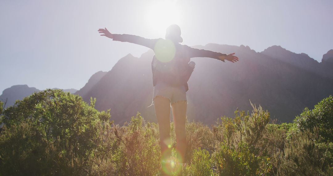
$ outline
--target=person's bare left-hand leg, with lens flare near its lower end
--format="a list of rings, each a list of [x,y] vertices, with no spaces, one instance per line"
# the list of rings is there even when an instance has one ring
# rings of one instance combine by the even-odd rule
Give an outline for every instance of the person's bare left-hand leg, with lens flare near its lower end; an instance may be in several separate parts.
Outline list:
[[[157,96],[154,98],[154,107],[160,129],[162,160],[167,160],[171,156],[170,100],[165,97]]]

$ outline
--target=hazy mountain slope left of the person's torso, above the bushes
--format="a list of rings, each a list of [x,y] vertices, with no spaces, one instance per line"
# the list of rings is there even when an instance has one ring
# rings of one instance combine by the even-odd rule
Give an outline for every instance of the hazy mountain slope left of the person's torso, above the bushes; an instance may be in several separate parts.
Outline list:
[[[121,58],[86,94],[81,95],[87,102],[96,97],[98,110],[111,109],[112,120],[116,123],[128,121],[140,111],[146,119],[155,120],[152,103],[153,83],[151,59],[153,52],[136,58],[131,54]]]

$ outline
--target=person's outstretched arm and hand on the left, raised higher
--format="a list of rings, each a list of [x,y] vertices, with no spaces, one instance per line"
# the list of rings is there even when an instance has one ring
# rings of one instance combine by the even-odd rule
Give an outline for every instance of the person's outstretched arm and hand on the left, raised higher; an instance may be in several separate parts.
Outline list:
[[[138,45],[146,46],[148,48],[154,49],[155,43],[158,39],[146,39],[144,37],[140,37],[137,35],[130,35],[130,34],[111,34],[107,28],[99,29],[98,30],[101,36],[106,36],[114,41],[121,41],[121,42],[130,42],[135,43]]]

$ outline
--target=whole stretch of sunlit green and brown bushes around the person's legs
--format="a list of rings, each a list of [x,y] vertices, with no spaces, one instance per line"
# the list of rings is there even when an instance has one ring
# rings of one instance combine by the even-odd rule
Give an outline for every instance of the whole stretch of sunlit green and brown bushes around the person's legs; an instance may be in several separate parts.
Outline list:
[[[159,126],[140,113],[116,125],[90,101],[48,89],[0,102],[0,175],[159,175]],[[185,163],[172,175],[333,175],[332,96],[288,124],[251,105],[211,126],[187,121]],[[171,141],[176,158],[172,123]]]

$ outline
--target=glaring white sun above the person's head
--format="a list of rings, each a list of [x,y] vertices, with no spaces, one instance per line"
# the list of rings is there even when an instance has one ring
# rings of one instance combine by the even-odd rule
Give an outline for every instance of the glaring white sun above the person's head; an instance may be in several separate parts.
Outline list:
[[[165,33],[169,25],[179,24],[181,19],[179,12],[175,0],[157,1],[149,6],[146,13],[146,22],[155,32]]]

